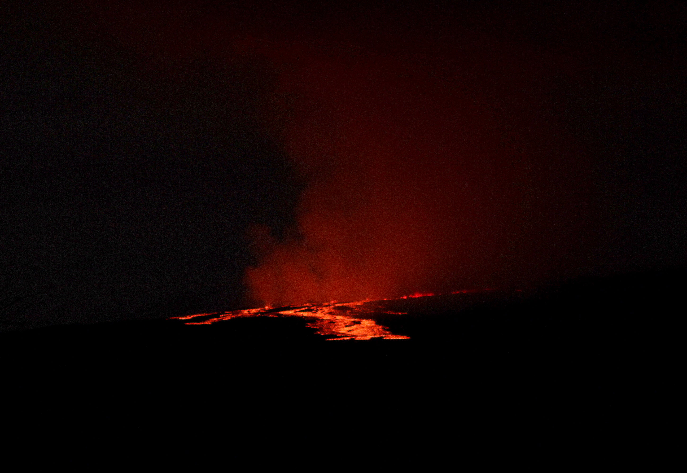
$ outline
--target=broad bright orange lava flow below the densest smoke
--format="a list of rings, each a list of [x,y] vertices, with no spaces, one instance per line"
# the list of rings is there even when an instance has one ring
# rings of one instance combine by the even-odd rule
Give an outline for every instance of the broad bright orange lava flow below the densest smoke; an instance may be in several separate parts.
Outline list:
[[[298,307],[266,307],[264,309],[245,309],[172,318],[189,320],[189,322],[185,322],[186,325],[210,325],[233,318],[302,317],[309,320],[307,326],[315,329],[315,333],[331,337],[327,340],[370,340],[372,338],[401,340],[409,338],[395,335],[387,327],[378,325],[372,318],[369,318],[373,314],[404,315],[405,312],[389,311],[374,301],[360,300],[351,303],[333,301],[326,304],[306,304]]]

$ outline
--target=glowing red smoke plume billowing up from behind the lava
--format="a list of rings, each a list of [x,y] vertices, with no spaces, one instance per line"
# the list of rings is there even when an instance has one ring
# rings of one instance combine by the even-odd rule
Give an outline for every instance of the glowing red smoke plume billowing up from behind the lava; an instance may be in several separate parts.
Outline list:
[[[278,71],[306,187],[296,228],[251,233],[249,298],[393,298],[574,267],[581,158],[547,109],[541,56],[477,33],[380,36],[254,46]]]

